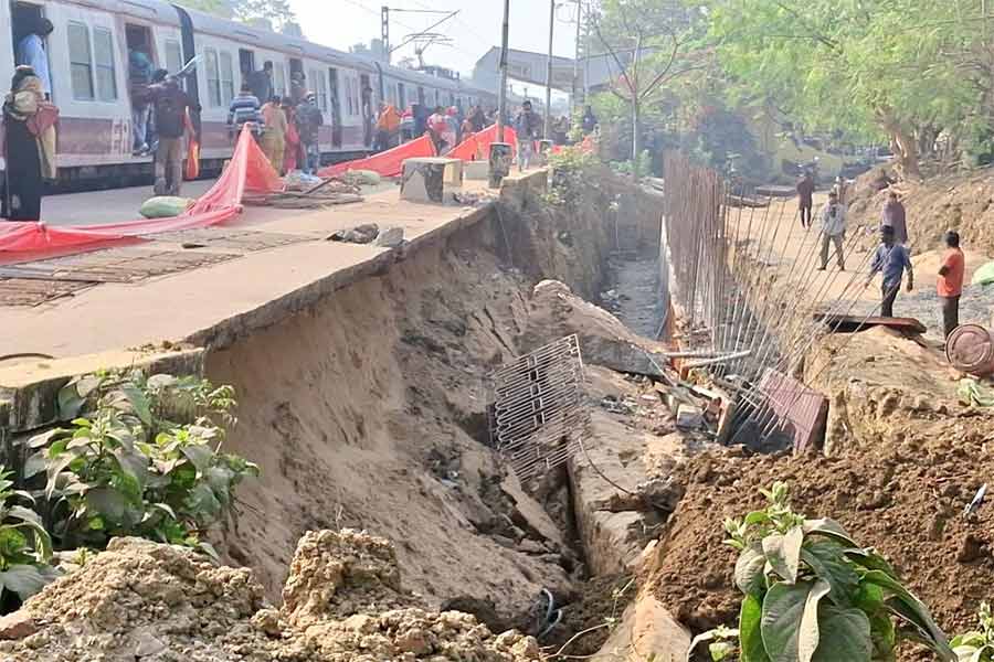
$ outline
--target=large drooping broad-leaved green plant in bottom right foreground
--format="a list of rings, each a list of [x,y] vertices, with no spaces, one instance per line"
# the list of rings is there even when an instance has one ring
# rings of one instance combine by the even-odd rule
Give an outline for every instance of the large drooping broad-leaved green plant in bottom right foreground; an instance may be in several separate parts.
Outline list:
[[[795,513],[786,484],[762,493],[764,510],[725,523],[728,544],[740,552],[741,662],[890,661],[901,639],[956,660],[928,607],[884,557],[838,523]],[[691,653],[708,637],[695,640]]]

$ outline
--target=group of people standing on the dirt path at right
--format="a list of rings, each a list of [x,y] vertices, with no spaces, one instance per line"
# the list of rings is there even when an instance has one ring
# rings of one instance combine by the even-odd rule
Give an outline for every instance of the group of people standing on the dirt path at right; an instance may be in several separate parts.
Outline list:
[[[810,228],[814,193],[814,181],[810,173],[802,177],[796,190],[801,225]],[[822,242],[818,266],[821,271],[828,266],[828,253],[832,246],[835,248],[839,270],[844,271],[846,268],[844,244],[847,207],[845,195],[846,182],[839,178],[828,193],[828,203],[822,207],[818,215]],[[963,292],[965,260],[963,252],[960,249],[959,233],[947,232],[944,242],[947,249],[942,256],[935,288],[942,309],[942,330],[945,338],[949,338],[950,333],[960,324],[960,297]],[[907,211],[897,192],[890,191],[880,214],[880,245],[873,254],[867,279],[867,286],[869,286],[877,274],[882,277],[880,286],[880,314],[882,317],[893,317],[893,303],[905,282],[906,273],[907,290],[910,292],[914,288],[914,269],[907,244]]]

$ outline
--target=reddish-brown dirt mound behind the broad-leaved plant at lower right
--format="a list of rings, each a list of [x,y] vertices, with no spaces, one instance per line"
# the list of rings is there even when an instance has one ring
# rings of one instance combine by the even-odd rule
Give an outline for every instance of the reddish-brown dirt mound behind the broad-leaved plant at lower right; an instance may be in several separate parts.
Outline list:
[[[962,513],[994,476],[994,414],[961,406],[954,376],[893,331],[824,339],[806,380],[832,404],[831,456],[713,449],[679,466],[685,495],[660,540],[656,595],[691,630],[731,623],[740,596],[722,523],[762,506],[759,489],[781,480],[797,512],[835,519],[890,558],[948,632],[972,627],[991,599],[994,504]]]

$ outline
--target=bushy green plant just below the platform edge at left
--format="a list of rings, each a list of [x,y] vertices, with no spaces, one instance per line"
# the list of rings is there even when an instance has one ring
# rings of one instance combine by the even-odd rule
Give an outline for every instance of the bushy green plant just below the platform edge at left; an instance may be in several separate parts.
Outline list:
[[[66,427],[29,441],[27,478],[45,474],[44,512],[61,548],[137,535],[190,546],[258,468],[221,452],[232,388],[140,372],[74,380],[59,394]]]

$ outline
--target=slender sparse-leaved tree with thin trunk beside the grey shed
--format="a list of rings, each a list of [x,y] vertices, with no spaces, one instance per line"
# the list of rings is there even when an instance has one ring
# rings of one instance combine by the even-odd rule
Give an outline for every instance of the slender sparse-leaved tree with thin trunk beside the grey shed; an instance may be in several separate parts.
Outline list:
[[[702,70],[708,57],[699,38],[705,15],[696,3],[664,0],[604,0],[593,30],[614,67],[610,92],[632,118],[632,160],[642,153],[644,108],[685,74]],[[637,166],[635,170],[638,175]]]

